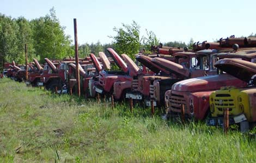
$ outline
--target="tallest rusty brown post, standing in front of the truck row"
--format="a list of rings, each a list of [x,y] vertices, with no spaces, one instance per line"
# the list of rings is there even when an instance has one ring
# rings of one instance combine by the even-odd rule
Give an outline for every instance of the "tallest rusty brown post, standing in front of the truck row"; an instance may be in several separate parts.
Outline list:
[[[76,18],[74,18],[74,34],[75,34],[75,57],[76,57],[76,81],[78,87],[78,96],[80,97],[80,75],[79,75],[79,66],[78,66],[78,43],[77,43],[77,24]]]

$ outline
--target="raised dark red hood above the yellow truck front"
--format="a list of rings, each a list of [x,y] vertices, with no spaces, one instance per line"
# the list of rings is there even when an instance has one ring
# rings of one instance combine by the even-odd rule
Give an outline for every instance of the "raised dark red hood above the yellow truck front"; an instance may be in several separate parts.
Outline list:
[[[256,64],[240,59],[221,59],[214,66],[246,83],[249,83],[252,76],[256,74]]]

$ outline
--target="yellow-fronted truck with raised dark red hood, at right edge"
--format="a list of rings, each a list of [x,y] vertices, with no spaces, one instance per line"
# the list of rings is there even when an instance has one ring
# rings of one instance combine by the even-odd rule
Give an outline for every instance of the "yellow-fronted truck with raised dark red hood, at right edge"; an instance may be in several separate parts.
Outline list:
[[[251,61],[256,51],[248,51]],[[254,54],[254,57],[252,55]],[[211,116],[206,121],[209,126],[223,125],[223,111],[229,109],[229,124],[240,124],[241,131],[247,131],[250,124],[256,122],[256,64],[239,59],[221,59],[215,67],[248,83],[247,87],[222,87],[210,95]]]

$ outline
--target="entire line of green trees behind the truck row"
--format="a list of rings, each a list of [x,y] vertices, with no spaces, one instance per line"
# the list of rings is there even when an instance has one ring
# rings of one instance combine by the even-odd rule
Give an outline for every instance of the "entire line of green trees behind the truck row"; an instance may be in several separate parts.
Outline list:
[[[78,46],[81,58],[87,57],[89,53],[98,54],[106,52],[106,48],[112,47],[119,54],[127,54],[134,59],[142,49],[150,51],[153,45],[159,45],[160,41],[152,31],[146,29],[146,36],[141,36],[139,25],[133,21],[131,24],[113,30],[114,36],[111,43],[102,44],[84,43]],[[33,58],[44,62],[44,58],[63,59],[74,57],[74,45],[70,36],[64,33],[65,27],[60,25],[54,8],[43,17],[28,20],[25,17],[12,18],[0,13],[0,70],[4,62],[15,61],[19,64],[25,63],[25,43],[28,47],[28,60]],[[99,38],[100,39],[100,38]],[[164,46],[185,47],[185,42],[166,42]]]

